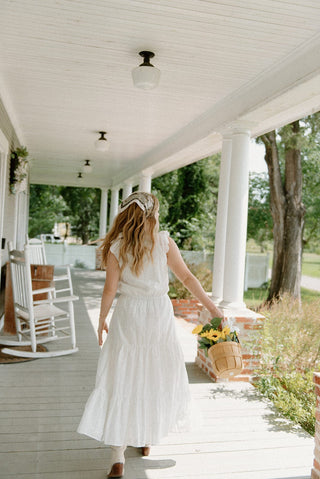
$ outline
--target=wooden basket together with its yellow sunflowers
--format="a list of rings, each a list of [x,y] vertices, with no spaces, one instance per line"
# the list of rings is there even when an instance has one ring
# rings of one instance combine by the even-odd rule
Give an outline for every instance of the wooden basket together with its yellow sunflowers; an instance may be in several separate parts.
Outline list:
[[[222,323],[225,323],[224,327]],[[238,328],[233,327],[231,318],[213,318],[205,325],[196,326],[192,333],[199,336],[199,349],[209,356],[217,377],[230,378],[240,374],[243,366]]]

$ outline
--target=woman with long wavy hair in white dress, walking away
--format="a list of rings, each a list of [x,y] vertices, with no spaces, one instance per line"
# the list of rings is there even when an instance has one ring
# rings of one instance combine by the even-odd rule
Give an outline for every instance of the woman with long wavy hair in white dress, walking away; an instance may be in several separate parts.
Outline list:
[[[125,199],[102,245],[106,282],[99,318],[96,386],[78,432],[112,448],[109,478],[124,474],[127,446],[159,443],[188,418],[190,393],[168,297],[168,266],[214,317],[223,317],[184,263],[175,242],[159,232],[154,195],[132,193]],[[106,317],[117,290],[120,296],[110,328]]]

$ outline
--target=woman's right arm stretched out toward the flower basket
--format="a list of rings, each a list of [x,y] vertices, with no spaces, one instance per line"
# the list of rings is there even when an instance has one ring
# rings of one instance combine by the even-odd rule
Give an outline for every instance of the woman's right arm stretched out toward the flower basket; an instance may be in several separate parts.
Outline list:
[[[211,301],[199,280],[191,273],[183,261],[179,248],[172,238],[169,238],[168,266],[190,293],[210,311],[213,317],[223,318],[223,313]]]

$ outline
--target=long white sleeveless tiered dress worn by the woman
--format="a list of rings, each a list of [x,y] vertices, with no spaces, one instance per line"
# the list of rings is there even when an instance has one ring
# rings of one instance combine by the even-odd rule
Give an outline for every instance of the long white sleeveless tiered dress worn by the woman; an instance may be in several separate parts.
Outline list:
[[[119,258],[121,239],[111,245]],[[187,430],[190,392],[168,297],[168,233],[156,235],[153,262],[136,276],[127,265],[101,349],[95,389],[78,432],[114,446],[158,444]]]

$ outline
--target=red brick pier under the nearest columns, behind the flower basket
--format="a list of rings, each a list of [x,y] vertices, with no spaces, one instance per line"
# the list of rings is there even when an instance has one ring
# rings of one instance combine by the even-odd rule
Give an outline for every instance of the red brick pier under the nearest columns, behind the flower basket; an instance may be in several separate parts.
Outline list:
[[[228,315],[225,311],[226,316]],[[259,366],[259,357],[257,349],[250,344],[252,332],[262,327],[263,316],[254,313],[250,310],[245,310],[241,316],[233,315],[235,317],[235,326],[240,330],[239,336],[242,349],[243,371],[238,376],[232,378],[232,381],[251,381],[254,377],[254,370]],[[210,320],[210,314],[205,308],[201,308],[198,323],[206,324]],[[251,333],[251,334],[250,334]],[[207,358],[203,350],[197,351],[196,364],[213,380],[219,381],[216,378],[210,359]],[[319,476],[320,479],[320,476]]]

